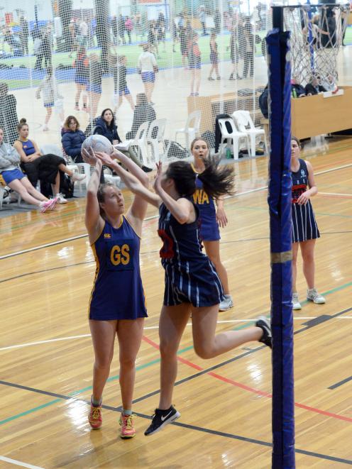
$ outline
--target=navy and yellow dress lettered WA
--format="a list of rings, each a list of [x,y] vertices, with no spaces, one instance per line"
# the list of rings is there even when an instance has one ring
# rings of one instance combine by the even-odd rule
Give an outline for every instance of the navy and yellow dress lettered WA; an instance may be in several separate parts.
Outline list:
[[[199,180],[199,177],[196,177],[193,202],[199,209],[200,237],[203,241],[219,241],[220,231],[219,224],[216,221],[214,199],[204,191],[203,183]]]

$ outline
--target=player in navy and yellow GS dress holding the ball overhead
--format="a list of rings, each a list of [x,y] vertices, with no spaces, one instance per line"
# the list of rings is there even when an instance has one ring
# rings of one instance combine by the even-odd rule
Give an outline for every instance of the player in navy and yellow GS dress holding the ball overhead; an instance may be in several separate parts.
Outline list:
[[[141,229],[147,202],[136,195],[124,215],[120,189],[109,183],[99,186],[101,161],[87,152],[82,155],[95,167],[87,188],[85,216],[89,242],[97,262],[89,301],[89,326],[95,355],[89,424],[98,429],[102,423],[101,397],[109,377],[117,336],[123,407],[119,421],[121,438],[132,438],[136,433],[131,412],[135,361],[147,316],[139,267]],[[148,177],[137,165],[122,154],[120,160],[141,185],[148,186]]]

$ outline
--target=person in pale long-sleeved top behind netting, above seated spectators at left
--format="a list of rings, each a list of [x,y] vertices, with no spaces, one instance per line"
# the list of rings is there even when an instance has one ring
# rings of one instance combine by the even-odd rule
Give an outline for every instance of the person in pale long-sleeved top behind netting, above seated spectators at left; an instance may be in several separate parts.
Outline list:
[[[53,74],[53,67],[48,67],[47,75],[45,75],[43,81],[40,83],[37,92],[35,93],[35,97],[40,99],[40,92],[43,92],[43,105],[46,109],[46,116],[45,122],[43,125],[43,131],[48,131],[48,123],[50,121],[50,117],[53,114],[53,107],[57,105],[57,101],[59,102],[59,116],[61,121],[61,126],[64,120],[64,110],[63,110],[63,96],[59,94],[57,88],[57,82],[55,76]]]

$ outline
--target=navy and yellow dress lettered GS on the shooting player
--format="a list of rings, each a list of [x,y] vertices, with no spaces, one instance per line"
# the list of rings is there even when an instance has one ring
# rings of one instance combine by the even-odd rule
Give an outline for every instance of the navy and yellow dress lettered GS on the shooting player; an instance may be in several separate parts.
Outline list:
[[[126,217],[119,228],[105,221],[92,244],[97,263],[89,319],[113,321],[148,316],[139,266],[141,239]]]

